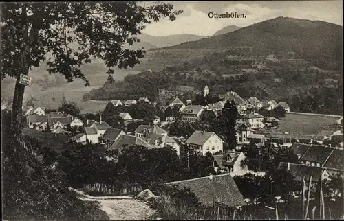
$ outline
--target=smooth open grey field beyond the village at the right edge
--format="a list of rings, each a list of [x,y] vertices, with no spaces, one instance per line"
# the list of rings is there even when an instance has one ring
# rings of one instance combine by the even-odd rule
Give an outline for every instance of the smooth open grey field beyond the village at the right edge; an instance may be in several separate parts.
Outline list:
[[[340,116],[334,115],[307,115],[304,113],[287,113],[286,117],[281,119],[281,132],[292,132],[303,135],[315,135],[324,126],[334,124]]]

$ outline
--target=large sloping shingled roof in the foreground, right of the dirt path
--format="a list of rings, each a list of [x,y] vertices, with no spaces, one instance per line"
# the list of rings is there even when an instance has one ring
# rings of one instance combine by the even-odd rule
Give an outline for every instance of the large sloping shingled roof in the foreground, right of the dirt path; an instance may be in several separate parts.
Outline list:
[[[166,185],[180,189],[189,188],[203,205],[213,205],[214,202],[219,202],[228,207],[241,207],[246,204],[230,174],[175,181],[166,183]]]

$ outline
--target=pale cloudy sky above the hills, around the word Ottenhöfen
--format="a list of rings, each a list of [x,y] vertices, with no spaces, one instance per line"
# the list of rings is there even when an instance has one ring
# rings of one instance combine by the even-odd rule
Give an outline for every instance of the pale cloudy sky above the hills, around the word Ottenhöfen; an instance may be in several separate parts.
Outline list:
[[[152,2],[146,2],[150,4]],[[153,36],[197,34],[213,36],[227,25],[246,27],[279,16],[320,20],[343,25],[343,1],[166,1],[184,10],[175,21],[162,19],[147,25],[143,33]],[[211,19],[209,12],[245,14],[243,19]]]

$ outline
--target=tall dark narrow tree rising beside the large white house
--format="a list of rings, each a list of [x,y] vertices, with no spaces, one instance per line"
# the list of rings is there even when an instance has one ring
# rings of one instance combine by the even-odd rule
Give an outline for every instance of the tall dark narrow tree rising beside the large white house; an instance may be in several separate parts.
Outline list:
[[[219,115],[219,128],[222,128],[221,133],[224,135],[230,149],[234,149],[237,146],[237,138],[235,137],[237,116],[238,111],[234,100],[228,100],[224,104],[221,115]]]

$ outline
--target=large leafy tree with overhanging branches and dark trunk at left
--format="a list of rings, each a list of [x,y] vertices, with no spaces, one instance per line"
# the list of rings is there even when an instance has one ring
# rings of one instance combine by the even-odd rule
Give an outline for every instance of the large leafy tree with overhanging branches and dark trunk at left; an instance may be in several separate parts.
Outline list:
[[[1,79],[17,78],[12,106],[12,130],[19,133],[25,86],[20,76],[47,60],[49,73],[61,73],[72,82],[89,81],[80,66],[91,58],[103,60],[108,74],[114,67],[133,67],[144,51],[124,49],[138,42],[144,25],[181,10],[162,2],[140,5],[119,2],[1,3]]]

